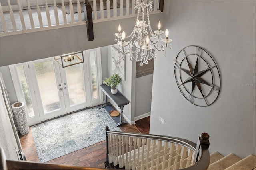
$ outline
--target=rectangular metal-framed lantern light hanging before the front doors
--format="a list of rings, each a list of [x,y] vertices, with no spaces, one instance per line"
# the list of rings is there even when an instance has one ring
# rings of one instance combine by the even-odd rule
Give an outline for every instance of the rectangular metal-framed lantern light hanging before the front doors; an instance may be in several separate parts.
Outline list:
[[[55,56],[54,60],[62,66],[62,68],[73,66],[75,64],[84,63],[84,54],[82,51]]]

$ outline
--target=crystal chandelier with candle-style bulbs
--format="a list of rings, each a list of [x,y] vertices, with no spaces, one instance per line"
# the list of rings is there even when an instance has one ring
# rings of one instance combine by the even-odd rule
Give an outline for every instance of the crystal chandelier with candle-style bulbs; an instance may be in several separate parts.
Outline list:
[[[160,21],[158,22],[158,30],[152,31],[149,12],[152,11],[153,0],[136,0],[135,10],[137,10],[137,18],[134,29],[129,36],[126,36],[125,32],[121,33],[121,25],[118,26],[118,33],[115,33],[115,42],[119,45],[119,52],[129,54],[130,60],[135,59],[140,61],[140,66],[143,64],[148,64],[148,61],[156,58],[156,50],[165,51],[168,46],[172,48],[169,44],[172,39],[168,38],[169,31],[166,29],[165,38],[162,37],[164,31],[161,29]],[[146,10],[147,18],[144,20],[144,12]],[[139,16],[141,14],[141,20]],[[130,38],[129,41],[125,41],[126,38]]]

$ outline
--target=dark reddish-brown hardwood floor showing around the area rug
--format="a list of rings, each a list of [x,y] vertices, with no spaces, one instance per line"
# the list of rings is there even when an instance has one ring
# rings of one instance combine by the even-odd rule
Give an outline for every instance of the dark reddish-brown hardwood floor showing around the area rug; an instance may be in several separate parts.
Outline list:
[[[135,125],[127,123],[121,126],[120,129],[124,132],[149,133],[150,116],[140,119],[135,123]],[[26,155],[27,161],[40,162],[31,131],[29,131],[27,135],[19,134],[19,137],[22,150]],[[54,160],[50,160],[46,163],[105,168],[105,159],[106,141],[102,141]]]

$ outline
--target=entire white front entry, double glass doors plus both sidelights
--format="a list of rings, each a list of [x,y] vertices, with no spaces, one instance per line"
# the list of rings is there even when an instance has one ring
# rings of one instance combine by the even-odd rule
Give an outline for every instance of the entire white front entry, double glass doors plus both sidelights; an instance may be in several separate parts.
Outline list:
[[[83,51],[85,62],[62,68],[54,57],[9,66],[28,124],[102,103],[100,49]]]

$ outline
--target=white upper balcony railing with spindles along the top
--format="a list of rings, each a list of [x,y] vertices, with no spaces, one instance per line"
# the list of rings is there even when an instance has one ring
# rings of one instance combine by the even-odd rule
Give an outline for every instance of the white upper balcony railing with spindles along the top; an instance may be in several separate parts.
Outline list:
[[[161,1],[154,0],[150,14],[161,12]],[[88,2],[93,23],[136,15],[135,0]],[[0,0],[0,36],[84,25],[84,3],[85,0]]]

